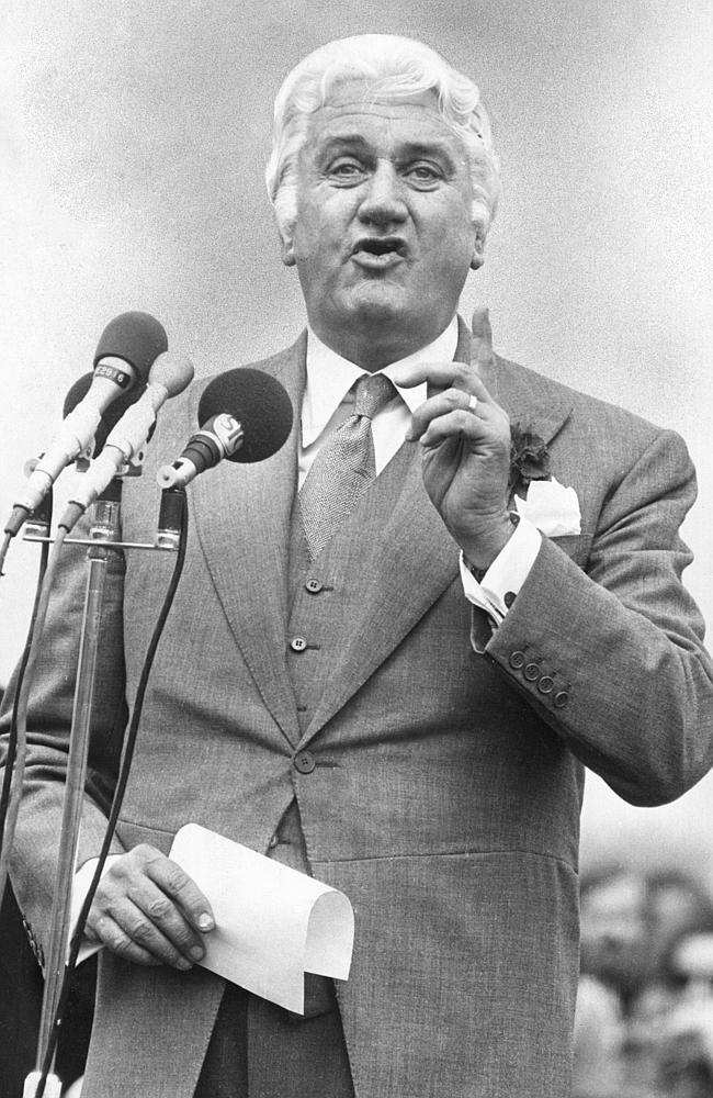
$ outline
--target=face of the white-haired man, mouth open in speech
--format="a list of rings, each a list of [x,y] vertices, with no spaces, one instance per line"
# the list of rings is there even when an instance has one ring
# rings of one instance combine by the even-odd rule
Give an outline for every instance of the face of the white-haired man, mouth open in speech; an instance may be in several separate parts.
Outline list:
[[[283,259],[320,338],[337,350],[373,338],[393,358],[445,328],[483,239],[465,148],[433,94],[365,96],[344,82],[310,119]]]

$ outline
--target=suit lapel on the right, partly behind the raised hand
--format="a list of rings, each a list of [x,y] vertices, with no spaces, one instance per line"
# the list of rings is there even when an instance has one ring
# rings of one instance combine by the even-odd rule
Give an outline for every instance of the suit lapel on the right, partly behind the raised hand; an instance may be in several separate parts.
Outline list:
[[[460,318],[455,359],[471,361],[471,333]],[[545,378],[505,359],[496,356],[491,367],[480,368],[480,376],[511,423],[531,427],[545,442],[569,414],[571,404]],[[375,548],[364,547],[373,553],[373,579],[364,591],[361,628],[350,629],[344,638],[303,744],[346,705],[459,574],[459,548],[423,489],[418,445],[404,447],[410,457],[398,500]],[[388,483],[385,473],[377,482],[381,491]],[[350,534],[359,537],[359,526],[352,526]]]

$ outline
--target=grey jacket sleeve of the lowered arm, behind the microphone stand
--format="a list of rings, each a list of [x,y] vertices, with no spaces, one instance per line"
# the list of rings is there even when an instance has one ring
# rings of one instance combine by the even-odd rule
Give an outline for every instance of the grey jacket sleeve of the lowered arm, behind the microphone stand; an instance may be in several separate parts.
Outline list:
[[[59,845],[69,733],[88,565],[86,548],[65,546],[55,575],[42,648],[31,684],[27,759],[11,875],[30,933],[46,943]],[[124,562],[112,553],[102,605],[87,793],[78,865],[99,853],[106,829],[126,725],[123,651]],[[4,766],[16,671],[3,701]],[[113,849],[122,851],[115,841]]]

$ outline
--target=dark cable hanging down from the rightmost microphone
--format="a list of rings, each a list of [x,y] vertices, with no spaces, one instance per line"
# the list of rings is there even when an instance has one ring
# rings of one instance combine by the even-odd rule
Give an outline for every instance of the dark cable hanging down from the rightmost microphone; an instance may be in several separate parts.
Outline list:
[[[77,964],[77,957],[79,956],[79,950],[82,943],[82,937],[84,932],[84,926],[87,923],[87,917],[89,915],[92,901],[94,899],[94,894],[101,881],[102,872],[106,863],[106,858],[112,844],[112,839],[114,837],[114,831],[116,829],[116,822],[118,820],[118,815],[122,809],[122,804],[124,800],[124,794],[126,792],[126,785],[128,784],[128,776],[132,766],[132,761],[134,758],[134,749],[136,747],[136,739],[138,736],[138,727],[142,719],[142,710],[144,708],[144,699],[146,696],[146,690],[148,687],[148,679],[154,665],[154,659],[156,657],[156,651],[158,649],[168,615],[170,613],[171,606],[173,605],[173,600],[176,597],[176,592],[178,590],[181,575],[183,573],[183,565],[185,563],[185,551],[188,544],[188,500],[185,496],[185,491],[183,489],[170,489],[170,494],[173,496],[179,496],[181,498],[181,516],[180,516],[180,534],[179,544],[176,553],[176,564],[173,567],[173,573],[169,586],[163,598],[163,604],[159,613],[149,646],[144,659],[144,665],[142,668],[142,673],[139,676],[138,685],[136,688],[136,697],[134,698],[134,707],[132,712],[132,717],[126,730],[124,750],[122,755],[122,762],[118,770],[118,775],[116,778],[116,787],[114,789],[114,796],[112,799],[112,807],[109,815],[109,820],[106,824],[106,830],[104,832],[104,839],[102,842],[101,851],[94,867],[94,874],[92,876],[89,890],[84,897],[84,901],[79,911],[77,919],[77,926],[75,928],[75,933],[72,934],[69,955],[65,965],[65,973],[61,982],[61,987],[57,998],[57,1006],[54,1011],[54,1018],[52,1021],[52,1028],[49,1030],[49,1035],[47,1040],[47,1046],[44,1050],[37,1050],[37,1062],[42,1060],[42,1065],[38,1068],[41,1072],[41,1077],[37,1082],[37,1087],[35,1091],[35,1098],[43,1098],[45,1084],[47,1082],[47,1076],[52,1069],[53,1060],[55,1056],[55,1050],[57,1047],[57,1041],[59,1039],[59,1033],[61,1030],[61,1024],[64,1020],[64,1013],[67,1007],[67,1000],[69,998],[69,993],[71,990],[71,983],[75,974],[75,967]]]

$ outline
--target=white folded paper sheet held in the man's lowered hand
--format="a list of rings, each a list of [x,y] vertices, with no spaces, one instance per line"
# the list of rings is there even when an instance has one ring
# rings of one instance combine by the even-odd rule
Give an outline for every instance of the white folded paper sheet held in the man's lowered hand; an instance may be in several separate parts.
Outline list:
[[[348,978],[354,915],[342,893],[197,824],[181,828],[170,858],[213,908],[205,968],[295,1013],[305,972]]]

